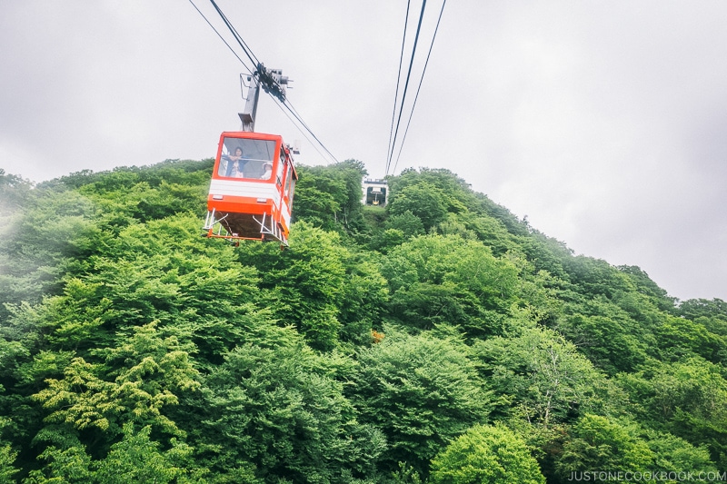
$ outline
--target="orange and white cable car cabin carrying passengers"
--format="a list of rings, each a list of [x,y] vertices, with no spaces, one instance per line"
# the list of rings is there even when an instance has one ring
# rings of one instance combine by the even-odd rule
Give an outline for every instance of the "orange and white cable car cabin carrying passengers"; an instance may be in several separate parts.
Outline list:
[[[220,136],[207,195],[207,237],[288,245],[295,182],[291,149],[277,134]]]

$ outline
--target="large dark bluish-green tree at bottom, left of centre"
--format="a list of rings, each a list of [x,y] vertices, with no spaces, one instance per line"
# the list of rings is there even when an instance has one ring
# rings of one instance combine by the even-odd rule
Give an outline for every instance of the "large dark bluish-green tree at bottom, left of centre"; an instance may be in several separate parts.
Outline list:
[[[219,449],[220,464],[254,463],[266,482],[375,475],[383,436],[356,421],[326,358],[288,333],[288,341],[271,348],[237,347],[209,375],[200,439]]]

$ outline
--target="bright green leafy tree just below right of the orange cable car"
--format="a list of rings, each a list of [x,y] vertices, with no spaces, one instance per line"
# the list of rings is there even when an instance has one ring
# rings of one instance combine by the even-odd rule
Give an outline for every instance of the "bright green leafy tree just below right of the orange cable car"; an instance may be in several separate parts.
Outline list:
[[[378,260],[344,247],[338,232],[295,222],[288,250],[257,244],[239,260],[259,270],[260,304],[317,350],[333,350],[342,339],[368,342],[380,324],[389,295]]]

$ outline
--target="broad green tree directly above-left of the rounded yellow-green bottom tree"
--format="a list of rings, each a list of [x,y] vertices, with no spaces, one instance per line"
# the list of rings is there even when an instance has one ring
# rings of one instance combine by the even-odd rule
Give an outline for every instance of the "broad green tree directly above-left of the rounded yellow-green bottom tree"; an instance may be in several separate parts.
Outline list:
[[[393,327],[359,351],[351,398],[361,420],[386,436],[384,469],[406,462],[424,475],[449,440],[487,416],[490,395],[466,353],[446,332],[408,336]]]

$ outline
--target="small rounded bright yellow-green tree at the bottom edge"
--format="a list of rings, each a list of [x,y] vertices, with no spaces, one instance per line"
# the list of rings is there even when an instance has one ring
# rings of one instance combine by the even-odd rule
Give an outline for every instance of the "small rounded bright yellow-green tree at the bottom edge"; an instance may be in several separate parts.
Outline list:
[[[512,430],[476,425],[432,461],[433,484],[544,484],[525,443]]]

